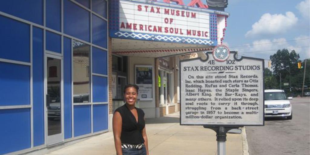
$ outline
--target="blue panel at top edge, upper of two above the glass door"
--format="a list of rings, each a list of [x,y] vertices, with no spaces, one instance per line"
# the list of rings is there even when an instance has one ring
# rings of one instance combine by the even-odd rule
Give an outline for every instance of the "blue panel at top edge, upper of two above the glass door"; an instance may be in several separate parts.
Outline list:
[[[61,1],[46,0],[46,26],[61,31]]]

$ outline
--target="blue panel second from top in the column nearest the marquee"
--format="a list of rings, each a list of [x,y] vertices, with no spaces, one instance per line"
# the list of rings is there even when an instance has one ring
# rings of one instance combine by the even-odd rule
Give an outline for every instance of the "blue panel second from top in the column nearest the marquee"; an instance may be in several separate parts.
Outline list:
[[[93,44],[107,48],[107,21],[92,15]]]

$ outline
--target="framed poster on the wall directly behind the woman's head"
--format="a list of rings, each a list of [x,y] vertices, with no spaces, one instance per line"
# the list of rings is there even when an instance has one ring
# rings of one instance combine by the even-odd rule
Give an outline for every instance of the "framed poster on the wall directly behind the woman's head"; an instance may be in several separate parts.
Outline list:
[[[141,101],[153,100],[153,66],[135,65],[135,84],[139,86]]]

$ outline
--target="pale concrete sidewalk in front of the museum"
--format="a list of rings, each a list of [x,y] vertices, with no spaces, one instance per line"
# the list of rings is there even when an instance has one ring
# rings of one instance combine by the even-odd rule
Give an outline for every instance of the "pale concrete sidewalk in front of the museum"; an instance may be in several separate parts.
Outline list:
[[[180,126],[179,113],[146,119],[150,155],[216,155],[216,133],[202,126]],[[242,155],[242,134],[227,134],[226,154]],[[115,155],[113,132],[93,136],[47,155]]]

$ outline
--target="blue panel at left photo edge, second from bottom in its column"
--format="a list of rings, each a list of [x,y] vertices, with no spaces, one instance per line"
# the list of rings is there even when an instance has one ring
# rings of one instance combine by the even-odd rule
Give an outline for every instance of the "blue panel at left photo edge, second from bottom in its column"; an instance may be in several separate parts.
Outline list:
[[[30,66],[0,62],[0,106],[30,104]]]

